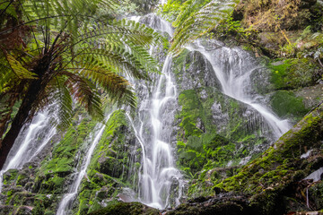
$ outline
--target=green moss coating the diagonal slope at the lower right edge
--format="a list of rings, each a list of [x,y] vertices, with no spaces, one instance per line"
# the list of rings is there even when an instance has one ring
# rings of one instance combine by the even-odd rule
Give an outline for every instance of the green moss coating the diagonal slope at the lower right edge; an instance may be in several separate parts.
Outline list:
[[[320,106],[285,133],[260,158],[250,162],[236,176],[226,178],[216,186],[227,191],[254,194],[267,187],[282,190],[311,171],[312,164],[301,159],[301,154],[310,147],[320,147],[322,138],[323,106]]]

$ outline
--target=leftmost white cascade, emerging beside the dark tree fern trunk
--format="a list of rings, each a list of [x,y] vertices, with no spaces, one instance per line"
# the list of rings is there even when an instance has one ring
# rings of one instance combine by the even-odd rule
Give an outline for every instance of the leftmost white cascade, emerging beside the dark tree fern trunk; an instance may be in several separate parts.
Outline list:
[[[9,169],[21,169],[22,166],[34,159],[57,133],[53,122],[57,118],[55,104],[45,111],[39,112],[32,120],[31,125],[23,127],[22,132],[13,144],[4,168],[0,171],[0,191],[2,190],[2,177]]]

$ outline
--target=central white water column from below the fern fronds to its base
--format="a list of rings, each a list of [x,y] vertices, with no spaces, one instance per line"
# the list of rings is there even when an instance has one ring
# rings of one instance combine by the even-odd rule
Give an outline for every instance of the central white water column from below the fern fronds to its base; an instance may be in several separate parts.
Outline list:
[[[170,65],[171,57],[167,56],[162,68],[162,75],[154,89],[151,107],[148,110],[150,122],[148,120],[146,125],[142,122],[138,135],[143,135],[144,127],[151,126],[153,133],[149,138],[146,138],[150,141],[144,142],[144,151],[147,155],[143,156],[143,171],[139,176],[139,199],[158,209],[169,206],[171,185],[174,185],[175,182],[182,183],[182,176],[175,168],[172,148],[169,143],[170,133],[163,131],[163,127],[168,121],[171,121],[167,117],[171,117],[172,113],[166,112],[163,115],[161,113],[170,102],[175,102],[177,96],[176,86],[171,81]],[[140,139],[144,140],[143,137]]]

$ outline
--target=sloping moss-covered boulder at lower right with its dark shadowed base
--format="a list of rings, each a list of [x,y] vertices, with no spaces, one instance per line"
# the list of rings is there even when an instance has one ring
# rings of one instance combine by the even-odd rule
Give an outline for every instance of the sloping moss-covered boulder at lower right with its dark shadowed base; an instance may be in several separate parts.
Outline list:
[[[249,162],[235,176],[215,185],[213,191],[217,194],[214,197],[194,199],[167,214],[221,212],[269,215],[309,210],[306,199],[300,197],[303,196],[303,191],[299,188],[300,181],[323,166],[322,140],[323,105],[320,105],[285,133],[261,157]],[[309,150],[311,153],[305,155]],[[310,186],[312,210],[323,209],[320,187],[321,182]],[[240,193],[244,193],[242,201]],[[230,197],[223,198],[225,196]]]

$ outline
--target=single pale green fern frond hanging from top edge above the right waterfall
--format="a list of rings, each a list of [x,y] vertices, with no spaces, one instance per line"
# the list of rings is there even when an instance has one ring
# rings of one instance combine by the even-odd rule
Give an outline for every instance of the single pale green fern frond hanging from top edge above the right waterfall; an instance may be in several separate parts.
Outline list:
[[[221,20],[233,11],[235,5],[239,2],[239,0],[214,0],[190,15],[175,30],[170,52],[179,54],[189,42],[214,29]]]

